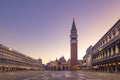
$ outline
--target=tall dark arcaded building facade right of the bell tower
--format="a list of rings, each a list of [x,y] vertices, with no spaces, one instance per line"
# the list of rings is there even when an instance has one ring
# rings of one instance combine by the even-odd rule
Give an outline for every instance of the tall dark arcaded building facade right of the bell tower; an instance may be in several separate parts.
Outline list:
[[[93,46],[93,68],[120,71],[120,20]]]

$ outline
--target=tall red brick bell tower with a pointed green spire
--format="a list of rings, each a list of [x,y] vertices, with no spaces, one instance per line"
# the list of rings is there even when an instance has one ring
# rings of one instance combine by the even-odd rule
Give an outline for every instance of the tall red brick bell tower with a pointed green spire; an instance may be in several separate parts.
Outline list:
[[[70,34],[70,47],[71,47],[71,70],[78,69],[78,62],[77,62],[77,29],[75,26],[75,21],[73,19],[71,34]]]

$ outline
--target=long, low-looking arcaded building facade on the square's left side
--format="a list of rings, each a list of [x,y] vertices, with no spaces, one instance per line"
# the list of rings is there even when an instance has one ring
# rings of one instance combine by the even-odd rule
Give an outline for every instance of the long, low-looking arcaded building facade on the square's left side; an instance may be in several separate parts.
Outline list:
[[[33,59],[12,48],[0,44],[0,71],[40,69],[41,60]]]

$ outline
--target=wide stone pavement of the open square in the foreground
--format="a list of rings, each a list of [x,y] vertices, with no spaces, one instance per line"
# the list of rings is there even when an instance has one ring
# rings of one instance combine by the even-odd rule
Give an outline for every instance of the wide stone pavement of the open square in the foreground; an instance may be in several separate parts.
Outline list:
[[[85,71],[0,72],[0,80],[120,80],[120,73]]]

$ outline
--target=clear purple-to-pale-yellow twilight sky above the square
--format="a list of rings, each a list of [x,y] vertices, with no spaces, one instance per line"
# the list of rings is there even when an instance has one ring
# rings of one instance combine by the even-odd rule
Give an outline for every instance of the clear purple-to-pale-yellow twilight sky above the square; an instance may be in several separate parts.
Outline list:
[[[0,0],[0,44],[43,63],[68,60],[73,18],[82,59],[120,19],[120,0]]]

